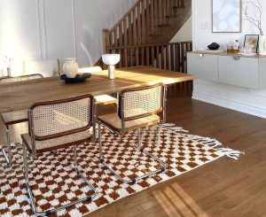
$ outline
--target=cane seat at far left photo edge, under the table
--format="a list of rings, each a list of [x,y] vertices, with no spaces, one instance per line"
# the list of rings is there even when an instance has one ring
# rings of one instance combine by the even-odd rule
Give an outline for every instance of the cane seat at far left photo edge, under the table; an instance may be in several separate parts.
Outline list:
[[[27,121],[27,109],[15,111],[15,112],[5,112],[2,113],[2,120],[4,125],[12,125],[16,123]]]

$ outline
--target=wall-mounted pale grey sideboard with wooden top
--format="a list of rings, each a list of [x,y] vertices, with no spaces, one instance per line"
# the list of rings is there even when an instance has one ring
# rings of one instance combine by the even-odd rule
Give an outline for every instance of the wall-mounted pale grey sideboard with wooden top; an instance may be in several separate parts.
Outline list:
[[[187,53],[188,74],[249,89],[266,89],[266,56],[237,53]]]

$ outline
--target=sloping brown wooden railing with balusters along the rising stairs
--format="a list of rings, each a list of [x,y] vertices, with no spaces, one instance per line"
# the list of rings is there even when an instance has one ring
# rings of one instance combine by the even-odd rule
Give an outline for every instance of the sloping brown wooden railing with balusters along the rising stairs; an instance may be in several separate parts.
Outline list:
[[[103,30],[103,48],[140,45],[156,36],[158,27],[168,27],[184,0],[138,0],[110,30]]]

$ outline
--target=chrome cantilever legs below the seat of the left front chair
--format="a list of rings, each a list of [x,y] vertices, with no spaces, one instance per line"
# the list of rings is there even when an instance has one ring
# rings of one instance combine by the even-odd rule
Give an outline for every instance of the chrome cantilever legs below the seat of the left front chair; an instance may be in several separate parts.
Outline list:
[[[47,210],[47,211],[45,211],[43,213],[38,213],[37,210],[36,210],[36,206],[35,206],[35,201],[34,201],[34,196],[33,196],[32,190],[30,189],[30,186],[28,184],[28,166],[27,166],[26,145],[24,143],[22,145],[23,145],[23,159],[24,159],[24,176],[25,176],[25,180],[26,180],[27,193],[29,195],[30,204],[32,206],[32,209],[33,209],[33,212],[35,213],[35,215],[37,215],[37,216],[48,216],[51,213],[56,213],[59,210],[66,209],[66,208],[68,208],[68,207],[70,207],[72,205],[75,205],[75,204],[78,204],[78,203],[82,203],[84,201],[89,201],[89,200],[91,200],[92,198],[94,198],[97,195],[97,190],[93,187],[92,184],[90,184],[90,182],[83,176],[83,174],[78,169],[76,145],[74,145],[74,149],[73,150],[74,150],[74,169],[75,169],[75,172],[76,172],[76,174],[80,175],[82,177],[82,180],[89,185],[90,189],[93,190],[93,194],[90,195],[90,196],[87,196],[86,198],[81,198],[79,200],[76,200],[76,201],[74,201],[72,203],[69,203],[69,204],[66,204],[66,205],[61,205],[58,208],[55,208],[55,209],[52,209],[52,210]]]

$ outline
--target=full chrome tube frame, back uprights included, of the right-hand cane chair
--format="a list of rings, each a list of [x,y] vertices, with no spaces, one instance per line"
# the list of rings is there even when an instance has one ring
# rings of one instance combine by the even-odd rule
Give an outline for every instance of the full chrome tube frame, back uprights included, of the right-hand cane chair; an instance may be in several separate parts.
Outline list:
[[[163,108],[162,108],[162,117],[163,117],[163,120],[160,121],[160,124],[163,124],[166,122],[166,102],[167,102],[167,86],[164,86],[164,95],[163,95]],[[124,96],[121,94],[121,93],[118,93],[118,99],[121,100],[119,101],[119,103],[121,104],[121,108],[123,108],[123,105],[124,105]],[[117,109],[119,110],[119,108]],[[137,128],[137,142],[138,142],[138,146],[137,146],[137,149],[138,151],[141,151],[142,153],[145,153],[145,155],[151,157],[152,159],[158,161],[161,165],[163,165],[163,167],[161,167],[160,169],[157,169],[151,173],[148,173],[148,174],[144,174],[142,176],[139,176],[135,179],[131,179],[131,180],[124,180],[123,178],[121,178],[121,176],[119,174],[116,174],[112,167],[109,167],[106,162],[105,162],[105,159],[103,158],[103,152],[102,152],[102,141],[101,141],[101,128],[102,126],[106,129],[108,129],[110,132],[113,133],[114,136],[122,136],[124,135],[125,133],[125,120],[124,120],[124,111],[123,109],[121,109],[121,132],[118,132],[116,130],[114,130],[113,128],[110,128],[109,126],[107,126],[105,123],[101,122],[100,120],[98,120],[98,143],[99,143],[99,155],[100,155],[100,162],[106,166],[109,171],[114,174],[121,182],[123,183],[136,183],[138,182],[139,180],[141,179],[144,179],[145,177],[148,177],[148,176],[151,176],[153,174],[157,174],[157,173],[160,173],[160,172],[165,172],[168,168],[168,164],[165,163],[164,161],[162,161],[161,159],[153,156],[153,154],[149,153],[148,151],[145,151],[143,148],[142,148],[142,139],[141,139],[141,128]],[[157,124],[156,124],[156,127]],[[158,128],[156,128],[156,139],[158,139],[157,137],[157,130]]]

